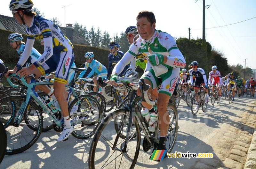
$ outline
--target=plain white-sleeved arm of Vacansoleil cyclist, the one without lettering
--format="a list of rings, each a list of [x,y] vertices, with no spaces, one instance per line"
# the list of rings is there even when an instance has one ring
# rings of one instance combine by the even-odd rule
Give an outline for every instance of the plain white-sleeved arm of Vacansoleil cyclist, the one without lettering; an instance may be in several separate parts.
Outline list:
[[[20,57],[16,67],[22,67],[26,63],[26,61],[28,60],[28,57],[31,54],[31,50],[33,48],[34,42],[35,42],[34,36],[27,34],[26,48],[25,48],[22,56]],[[17,68],[16,68],[16,70],[17,70]]]

